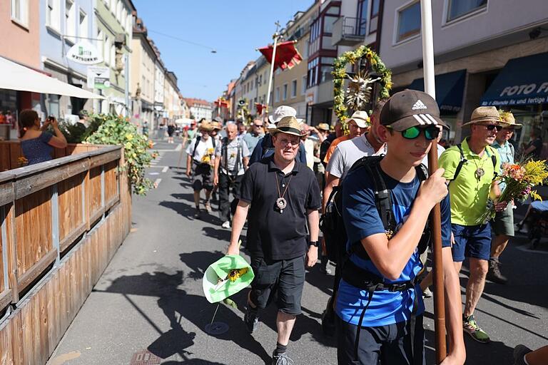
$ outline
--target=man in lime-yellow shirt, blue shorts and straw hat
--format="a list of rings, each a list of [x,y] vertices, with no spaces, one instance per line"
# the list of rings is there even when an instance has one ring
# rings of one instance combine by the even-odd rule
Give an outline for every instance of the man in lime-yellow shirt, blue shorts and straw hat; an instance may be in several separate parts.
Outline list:
[[[473,339],[487,343],[489,336],[477,325],[474,310],[489,267],[491,227],[489,222],[482,222],[482,215],[487,210],[490,192],[498,187],[493,180],[500,170],[500,157],[491,145],[500,128],[499,112],[494,107],[476,108],[470,122],[462,126],[465,125],[470,125],[470,137],[442,153],[440,168],[445,169],[443,177],[450,180],[452,254],[457,272],[465,257],[470,259],[462,325]],[[501,203],[495,205],[495,210],[505,207]]]

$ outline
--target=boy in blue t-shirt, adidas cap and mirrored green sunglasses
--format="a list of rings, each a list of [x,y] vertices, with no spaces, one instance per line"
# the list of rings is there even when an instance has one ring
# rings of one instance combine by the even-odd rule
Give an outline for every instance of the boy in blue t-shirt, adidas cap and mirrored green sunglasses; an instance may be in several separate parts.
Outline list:
[[[441,202],[442,257],[449,355],[442,365],[463,364],[460,286],[450,248],[450,204],[443,170],[421,182],[420,165],[440,133],[440,110],[432,97],[405,90],[382,108],[378,135],[387,155],[376,165],[390,190],[394,232],[387,232],[375,200],[374,177],[365,168],[342,184],[342,215],[349,257],[343,264],[335,312],[339,364],[425,364],[422,313],[415,280],[422,269],[417,245],[432,207]],[[364,250],[365,249],[365,252]],[[352,282],[352,284],[350,284]],[[374,285],[373,285],[374,284]],[[417,325],[411,329],[410,319]],[[411,337],[412,331],[415,337]]]

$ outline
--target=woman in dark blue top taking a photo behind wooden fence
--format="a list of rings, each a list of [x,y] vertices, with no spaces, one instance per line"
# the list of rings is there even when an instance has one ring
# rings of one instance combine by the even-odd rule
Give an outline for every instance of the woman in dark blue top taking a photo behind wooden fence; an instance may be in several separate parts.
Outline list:
[[[51,125],[54,128],[55,135],[45,130]],[[26,109],[19,114],[19,140],[21,140],[21,150],[27,165],[34,165],[51,160],[51,151],[54,148],[65,148],[66,139],[59,124],[54,117],[49,117],[44,125],[40,127],[40,119],[35,110]]]

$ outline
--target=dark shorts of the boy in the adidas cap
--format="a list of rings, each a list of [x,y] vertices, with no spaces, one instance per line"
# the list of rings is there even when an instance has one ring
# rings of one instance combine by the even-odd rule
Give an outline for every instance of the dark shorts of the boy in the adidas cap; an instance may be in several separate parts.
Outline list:
[[[425,365],[422,315],[415,317],[412,322],[413,326],[410,321],[405,321],[387,326],[362,327],[356,354],[357,326],[337,316],[338,364]],[[416,354],[413,354],[414,347],[417,349]]]

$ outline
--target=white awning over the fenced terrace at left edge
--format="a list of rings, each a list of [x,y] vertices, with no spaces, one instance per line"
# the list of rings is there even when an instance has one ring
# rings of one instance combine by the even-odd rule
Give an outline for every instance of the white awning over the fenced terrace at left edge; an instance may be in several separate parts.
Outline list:
[[[4,57],[0,57],[0,74],[0,88],[7,90],[73,96],[82,99],[104,99],[104,96],[46,76]]]

